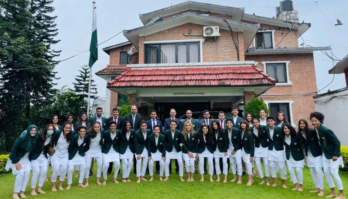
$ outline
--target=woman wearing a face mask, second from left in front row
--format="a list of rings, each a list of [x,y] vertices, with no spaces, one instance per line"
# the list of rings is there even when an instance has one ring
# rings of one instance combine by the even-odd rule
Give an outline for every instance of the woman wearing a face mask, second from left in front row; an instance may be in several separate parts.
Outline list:
[[[33,171],[31,176],[31,196],[36,196],[35,188],[39,180],[37,192],[39,194],[46,194],[41,188],[45,182],[48,168],[47,149],[52,146],[52,141],[55,138],[56,129],[53,124],[47,124],[44,131],[39,133],[39,140],[30,154],[31,169]],[[40,176],[40,177],[39,177]]]

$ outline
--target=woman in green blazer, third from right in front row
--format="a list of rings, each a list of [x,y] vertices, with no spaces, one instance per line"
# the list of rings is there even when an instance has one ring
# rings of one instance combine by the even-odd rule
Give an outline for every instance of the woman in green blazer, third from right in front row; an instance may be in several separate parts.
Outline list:
[[[281,129],[281,135],[283,137],[283,144],[285,146],[286,164],[289,169],[291,182],[295,185],[292,191],[303,192],[303,166],[304,155],[301,147],[301,141],[297,135],[295,129],[285,123]],[[295,169],[297,178],[295,175]]]

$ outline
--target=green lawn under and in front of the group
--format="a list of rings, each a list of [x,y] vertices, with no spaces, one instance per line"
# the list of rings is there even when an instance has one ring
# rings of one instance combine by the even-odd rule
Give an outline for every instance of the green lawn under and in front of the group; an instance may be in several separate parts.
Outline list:
[[[51,182],[45,182],[42,190],[47,194],[36,197],[31,197],[30,192],[30,180],[25,191],[25,195],[28,199],[108,199],[108,198],[142,198],[142,199],[181,199],[181,198],[199,198],[199,199],[229,199],[229,198],[250,198],[253,199],[318,199],[316,193],[309,193],[310,190],[315,190],[313,181],[309,172],[309,169],[305,167],[304,173],[304,191],[293,192],[290,189],[293,188],[293,184],[290,181],[289,173],[286,180],[287,189],[281,188],[281,181],[278,180],[278,187],[266,187],[264,185],[258,185],[260,183],[259,178],[254,178],[254,185],[247,187],[247,176],[243,176],[243,185],[237,185],[235,183],[228,182],[224,184],[222,182],[209,182],[209,176],[205,175],[205,182],[199,182],[200,175],[195,174],[195,182],[179,182],[178,175],[173,172],[168,182],[160,182],[158,175],[154,174],[155,180],[153,182],[141,182],[136,183],[136,175],[131,173],[131,183],[122,183],[122,173],[117,176],[119,184],[112,183],[113,173],[108,175],[108,184],[106,186],[98,186],[95,184],[96,164],[94,163],[93,176],[89,178],[89,187],[81,189],[77,187],[78,178],[73,177],[73,187],[71,190],[51,192]],[[174,167],[173,167],[174,171]],[[49,173],[51,170],[49,169]],[[222,175],[220,176],[222,177]],[[348,173],[340,172],[340,177],[343,181],[344,190],[348,190]],[[150,177],[145,176],[146,179]],[[228,180],[232,180],[233,176],[229,175]],[[0,176],[0,199],[10,199],[13,192],[15,176],[11,173],[2,174]],[[102,177],[101,177],[102,179]],[[184,179],[187,179],[184,174]],[[222,177],[223,179],[223,177]],[[216,176],[214,176],[216,180]],[[324,180],[325,181],[325,180]],[[58,182],[58,181],[57,181]],[[64,181],[63,187],[67,186],[67,180]],[[325,194],[329,195],[330,189],[328,185],[324,184]],[[336,191],[338,192],[337,188]]]

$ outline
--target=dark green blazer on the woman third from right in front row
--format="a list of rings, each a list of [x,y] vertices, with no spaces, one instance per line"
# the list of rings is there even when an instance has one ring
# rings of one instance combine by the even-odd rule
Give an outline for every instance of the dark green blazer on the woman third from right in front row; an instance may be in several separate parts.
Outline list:
[[[302,135],[301,135],[302,136]],[[285,136],[283,137],[283,144],[285,145],[285,155],[286,159],[289,160],[290,158],[290,153],[291,156],[294,160],[300,161],[304,159],[302,147],[301,147],[301,141],[298,138],[298,135],[296,134],[295,136],[291,136],[291,143],[288,145],[285,142]]]

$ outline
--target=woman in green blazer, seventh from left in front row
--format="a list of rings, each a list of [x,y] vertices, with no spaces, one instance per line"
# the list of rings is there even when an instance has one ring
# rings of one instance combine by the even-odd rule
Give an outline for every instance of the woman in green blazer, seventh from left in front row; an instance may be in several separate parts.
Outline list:
[[[131,125],[130,121],[124,122],[118,138],[118,152],[120,160],[122,160],[122,183],[131,182],[129,175],[133,167],[135,133],[135,130],[131,129]]]

